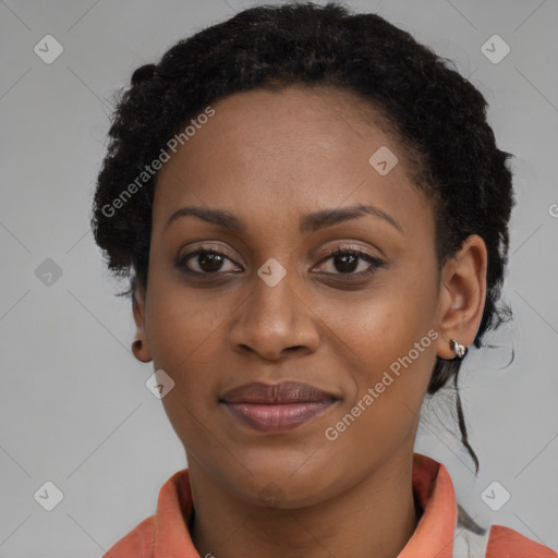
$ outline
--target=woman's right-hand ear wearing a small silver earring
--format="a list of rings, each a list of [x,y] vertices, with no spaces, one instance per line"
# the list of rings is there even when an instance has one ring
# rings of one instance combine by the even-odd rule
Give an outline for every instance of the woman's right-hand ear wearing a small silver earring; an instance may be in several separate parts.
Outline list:
[[[436,352],[439,357],[456,356],[451,339],[469,347],[473,343],[486,298],[486,245],[477,234],[470,235],[440,274],[440,295]]]

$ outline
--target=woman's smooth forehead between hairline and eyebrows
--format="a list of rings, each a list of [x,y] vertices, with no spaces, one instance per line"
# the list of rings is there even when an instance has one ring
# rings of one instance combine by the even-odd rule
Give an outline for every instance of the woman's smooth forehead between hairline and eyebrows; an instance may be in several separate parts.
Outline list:
[[[301,215],[353,203],[373,203],[401,221],[428,205],[389,122],[356,95],[290,86],[238,93],[211,108],[159,171],[154,230],[182,205],[246,221],[277,217],[279,208]]]

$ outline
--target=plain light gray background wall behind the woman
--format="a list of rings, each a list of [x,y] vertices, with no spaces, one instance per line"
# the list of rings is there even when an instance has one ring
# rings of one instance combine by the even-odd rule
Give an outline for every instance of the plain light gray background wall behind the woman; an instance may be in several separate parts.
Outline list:
[[[131,308],[113,296],[123,284],[105,270],[89,208],[114,89],[179,38],[255,3],[0,1],[1,557],[100,556],[155,512],[160,486],[185,466],[145,387],[153,364],[131,354]],[[452,59],[487,98],[498,146],[515,155],[504,292],[515,320],[461,375],[480,475],[449,396],[425,407],[416,451],[446,464],[476,521],[558,548],[557,2],[347,4]],[[47,34],[64,49],[51,64],[34,52]],[[496,64],[481,51],[494,34],[511,47]],[[47,258],[62,271],[51,284],[36,275]],[[47,481],[63,493],[52,511],[34,498]],[[511,494],[498,511],[481,497],[494,481]]]

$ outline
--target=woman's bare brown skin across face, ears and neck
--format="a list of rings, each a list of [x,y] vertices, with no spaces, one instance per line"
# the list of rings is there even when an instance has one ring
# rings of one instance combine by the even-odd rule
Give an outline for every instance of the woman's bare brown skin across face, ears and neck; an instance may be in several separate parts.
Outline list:
[[[420,519],[418,413],[436,356],[452,359],[450,339],[469,345],[478,329],[485,244],[470,236],[438,275],[432,202],[409,178],[398,138],[352,94],[291,86],[213,106],[216,114],[159,171],[147,289],[134,298],[134,354],[175,383],[162,402],[185,448],[194,544],[219,558],[397,556]],[[380,146],[399,158],[386,175],[368,163]],[[381,208],[402,232],[372,215],[299,230],[302,215],[356,204]],[[192,216],[166,227],[183,206],[230,211],[246,229]],[[174,260],[202,243],[227,257],[216,268],[194,256],[183,264],[205,270],[194,278]],[[371,264],[357,259],[343,272],[328,247],[356,247],[384,265],[350,281]],[[271,257],[287,270],[275,287],[257,275]],[[429,330],[438,338],[328,440],[326,428]],[[218,402],[242,384],[280,380],[340,401],[280,434],[242,425]]]

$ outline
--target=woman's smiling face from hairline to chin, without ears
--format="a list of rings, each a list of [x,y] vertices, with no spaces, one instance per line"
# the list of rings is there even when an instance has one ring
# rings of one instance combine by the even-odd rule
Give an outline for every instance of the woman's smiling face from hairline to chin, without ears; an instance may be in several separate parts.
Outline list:
[[[248,500],[275,483],[283,506],[315,504],[408,459],[436,354],[453,356],[432,204],[348,93],[259,89],[213,108],[159,171],[136,323],[174,381],[162,402],[191,469]],[[368,160],[386,147],[391,170]],[[282,381],[327,396],[277,412],[222,399]]]

